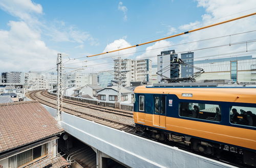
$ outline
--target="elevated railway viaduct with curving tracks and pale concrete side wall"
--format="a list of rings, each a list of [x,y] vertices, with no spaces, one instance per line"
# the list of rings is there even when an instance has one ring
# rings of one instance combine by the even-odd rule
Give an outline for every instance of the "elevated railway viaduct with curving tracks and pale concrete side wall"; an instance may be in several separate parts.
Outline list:
[[[27,97],[39,101],[56,116],[56,96],[48,91],[33,91]],[[63,99],[60,125],[67,135],[94,150],[97,167],[107,167],[106,158],[125,167],[235,167],[136,134],[133,112],[128,110]],[[73,152],[70,157],[75,158],[78,153]]]

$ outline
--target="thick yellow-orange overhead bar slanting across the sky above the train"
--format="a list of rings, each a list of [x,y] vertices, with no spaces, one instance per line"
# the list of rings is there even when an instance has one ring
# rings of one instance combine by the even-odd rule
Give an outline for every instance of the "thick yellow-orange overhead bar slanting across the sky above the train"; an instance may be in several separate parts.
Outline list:
[[[165,39],[170,39],[170,38],[181,36],[181,35],[185,35],[185,34],[188,34],[188,33],[191,33],[191,32],[196,32],[196,31],[199,31],[199,30],[207,29],[207,28],[212,27],[212,26],[216,26],[216,25],[224,24],[224,23],[227,23],[227,22],[230,22],[230,21],[234,21],[234,20],[245,18],[245,17],[249,17],[249,16],[252,16],[252,15],[255,15],[255,14],[256,14],[256,12],[248,14],[248,15],[240,16],[240,17],[237,17],[237,18],[229,19],[229,20],[226,20],[226,21],[222,21],[222,22],[219,22],[219,23],[203,26],[203,27],[200,27],[198,29],[191,30],[191,31],[186,31],[186,32],[179,33],[179,34],[176,34],[176,35],[164,37],[164,38],[161,38],[161,39],[152,40],[152,41],[148,41],[148,42],[144,42],[144,43],[141,43],[141,44],[136,44],[136,45],[133,45],[133,46],[130,46],[130,47],[124,47],[124,48],[120,48],[120,49],[116,49],[116,50],[112,50],[112,51],[106,51],[106,52],[90,55],[90,56],[87,56],[87,57],[95,57],[97,55],[102,55],[102,54],[106,54],[106,53],[116,52],[116,51],[120,51],[120,50],[124,50],[124,49],[129,49],[129,48],[145,45],[145,44],[154,43],[154,42],[165,40]]]

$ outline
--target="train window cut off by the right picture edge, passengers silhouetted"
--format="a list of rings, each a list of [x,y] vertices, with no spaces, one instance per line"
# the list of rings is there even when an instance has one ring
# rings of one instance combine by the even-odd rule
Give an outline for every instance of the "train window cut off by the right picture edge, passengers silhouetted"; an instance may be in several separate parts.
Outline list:
[[[231,106],[230,123],[256,127],[256,107]]]

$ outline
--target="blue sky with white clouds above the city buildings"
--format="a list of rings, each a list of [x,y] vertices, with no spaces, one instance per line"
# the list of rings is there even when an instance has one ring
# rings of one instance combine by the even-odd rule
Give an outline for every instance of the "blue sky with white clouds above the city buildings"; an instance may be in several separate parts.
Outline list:
[[[254,8],[253,8],[254,7]],[[126,47],[169,35],[196,29],[226,19],[256,11],[256,2],[242,1],[31,1],[0,0],[0,71],[45,71],[56,64],[57,53],[63,58],[79,58],[103,51]],[[202,47],[226,44],[230,39],[209,40],[177,47],[179,43],[225,36],[256,27],[256,17],[226,23],[201,32],[148,44],[95,58],[71,60],[69,66],[88,66],[84,72],[111,69],[112,59],[117,54],[122,58],[150,58],[162,50],[177,52],[193,51]],[[232,36],[232,42],[256,38],[256,33]],[[160,49],[157,49],[162,47]],[[251,50],[256,49],[250,43]],[[213,53],[240,51],[244,45],[198,51],[195,57],[206,57]],[[152,50],[153,49],[153,50]],[[141,52],[138,52],[141,51]],[[254,54],[241,53],[241,54]],[[155,55],[155,56],[154,56]],[[205,56],[206,55],[206,56]],[[153,57],[154,56],[154,57]],[[230,56],[236,56],[231,55]],[[239,56],[239,55],[237,55]],[[92,61],[93,60],[93,61]],[[87,63],[80,63],[88,61]],[[105,64],[94,66],[97,64]],[[68,65],[67,65],[68,66]],[[94,67],[94,68],[92,68]]]

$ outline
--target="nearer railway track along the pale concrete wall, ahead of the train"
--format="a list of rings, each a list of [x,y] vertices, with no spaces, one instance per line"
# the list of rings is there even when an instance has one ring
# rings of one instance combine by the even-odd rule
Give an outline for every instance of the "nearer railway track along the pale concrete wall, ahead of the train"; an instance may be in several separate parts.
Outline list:
[[[40,98],[39,96],[37,96],[36,93],[38,93],[38,92],[40,92],[40,94],[41,94],[44,91],[33,91],[33,92],[30,92],[28,94],[28,96],[31,99],[37,100],[42,104],[45,104],[45,105],[48,105],[50,107],[56,108],[55,103],[44,100],[44,99]],[[51,98],[51,99],[53,99],[53,98]],[[86,106],[83,106],[83,107],[86,107]],[[94,121],[96,123],[103,124],[103,125],[115,128],[115,129],[128,131],[128,132],[135,132],[135,127],[133,125],[123,124],[121,122],[116,122],[116,121],[113,121],[113,120],[110,120],[110,119],[105,119],[105,118],[98,117],[98,116],[95,116],[95,115],[87,114],[87,113],[84,113],[82,111],[74,110],[74,109],[71,109],[71,108],[68,108],[68,107],[62,107],[62,111],[65,111],[66,113],[75,115],[77,117],[87,119],[87,120],[90,120],[90,121]]]

